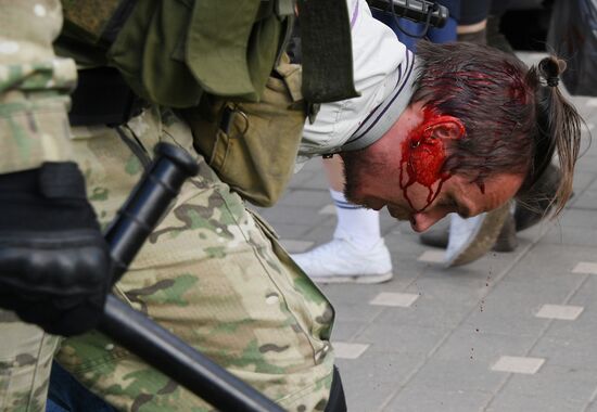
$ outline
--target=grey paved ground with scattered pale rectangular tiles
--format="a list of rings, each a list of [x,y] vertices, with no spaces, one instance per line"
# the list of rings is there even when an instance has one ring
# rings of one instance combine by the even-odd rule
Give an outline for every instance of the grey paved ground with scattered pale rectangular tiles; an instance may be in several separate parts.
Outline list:
[[[594,129],[597,99],[572,101]],[[321,286],[336,309],[350,411],[597,412],[597,144],[587,134],[574,197],[520,232],[513,253],[444,269],[442,249],[382,211],[394,279]],[[258,211],[291,253],[328,242],[335,216],[321,162]]]

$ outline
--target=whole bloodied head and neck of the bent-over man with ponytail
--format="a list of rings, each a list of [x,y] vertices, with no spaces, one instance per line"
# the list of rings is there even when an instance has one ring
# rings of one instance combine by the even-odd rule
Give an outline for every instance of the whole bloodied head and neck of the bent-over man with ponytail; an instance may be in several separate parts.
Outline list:
[[[407,73],[408,59],[402,66]],[[422,232],[449,213],[473,217],[523,194],[557,150],[563,179],[554,202],[561,210],[581,123],[557,87],[563,68],[555,57],[529,69],[487,47],[420,42],[411,80],[339,150],[346,198],[385,206]]]

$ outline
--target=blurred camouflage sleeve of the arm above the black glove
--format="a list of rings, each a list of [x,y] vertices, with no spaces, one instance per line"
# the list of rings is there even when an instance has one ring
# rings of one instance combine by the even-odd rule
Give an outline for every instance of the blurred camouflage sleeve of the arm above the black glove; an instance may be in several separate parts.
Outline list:
[[[60,0],[0,0],[0,173],[72,159],[75,62],[55,56]]]

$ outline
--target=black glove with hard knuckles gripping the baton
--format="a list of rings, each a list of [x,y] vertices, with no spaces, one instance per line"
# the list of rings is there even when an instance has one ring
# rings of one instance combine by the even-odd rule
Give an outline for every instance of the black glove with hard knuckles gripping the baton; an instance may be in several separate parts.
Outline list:
[[[69,336],[98,324],[109,285],[107,245],[77,166],[0,175],[0,307]]]

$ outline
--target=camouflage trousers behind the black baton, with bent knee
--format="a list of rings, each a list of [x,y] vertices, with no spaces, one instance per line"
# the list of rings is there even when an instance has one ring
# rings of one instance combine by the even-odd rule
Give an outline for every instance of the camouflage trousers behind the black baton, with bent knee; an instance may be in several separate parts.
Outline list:
[[[275,232],[194,152],[190,130],[172,112],[153,107],[122,131],[123,136],[107,128],[74,130],[88,195],[103,224],[142,172],[131,145],[143,151],[160,141],[175,143],[198,158],[201,171],[185,184],[114,292],[284,409],[322,411],[333,368],[329,301],[292,262]],[[33,327],[4,322],[0,336],[12,326]],[[37,333],[37,349],[23,351],[20,344],[18,350],[12,348],[12,358],[2,339],[2,410],[42,408],[56,339]],[[48,349],[45,357],[40,348]],[[64,339],[55,359],[119,410],[212,410],[97,332]],[[4,376],[23,362],[38,365],[39,373],[29,387],[16,390]],[[27,407],[17,396],[39,400]]]

